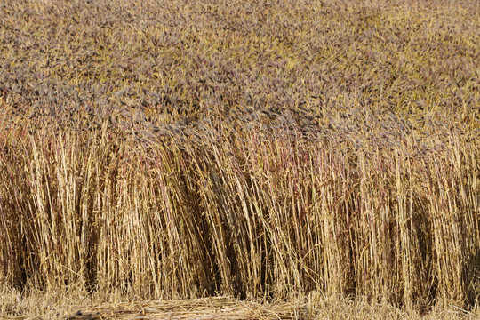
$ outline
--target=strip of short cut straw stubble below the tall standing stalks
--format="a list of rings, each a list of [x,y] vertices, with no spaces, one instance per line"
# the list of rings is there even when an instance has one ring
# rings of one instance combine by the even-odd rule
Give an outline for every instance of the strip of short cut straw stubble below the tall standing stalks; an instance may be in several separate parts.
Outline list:
[[[308,294],[301,299],[270,302],[240,301],[230,297],[189,300],[132,300],[118,292],[85,297],[65,292],[3,292],[5,306],[23,308],[24,316],[9,320],[97,319],[476,319],[478,308],[436,306],[427,312],[395,308],[385,301],[348,300],[340,296]],[[67,294],[66,294],[67,293]],[[66,297],[70,297],[67,299]],[[102,301],[99,303],[99,301]],[[108,302],[115,301],[115,302]],[[5,313],[4,313],[5,314]]]

